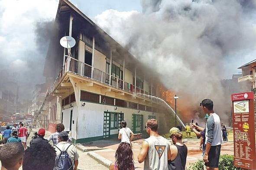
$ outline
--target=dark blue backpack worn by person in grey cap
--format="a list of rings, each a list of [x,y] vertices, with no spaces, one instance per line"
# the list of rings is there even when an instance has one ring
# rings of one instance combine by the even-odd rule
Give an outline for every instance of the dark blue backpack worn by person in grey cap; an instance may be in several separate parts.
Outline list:
[[[68,148],[71,145],[72,144],[70,144]],[[56,145],[55,147],[58,148]],[[54,170],[73,170],[73,164],[67,152],[68,148],[65,151],[62,151],[58,148],[61,153],[55,159]]]

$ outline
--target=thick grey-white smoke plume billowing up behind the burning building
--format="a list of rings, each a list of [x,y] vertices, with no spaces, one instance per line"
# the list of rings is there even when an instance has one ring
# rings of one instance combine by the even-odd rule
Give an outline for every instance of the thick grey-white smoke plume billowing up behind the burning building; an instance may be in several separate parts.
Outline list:
[[[220,83],[229,69],[224,61],[233,63],[237,60],[233,54],[255,50],[251,16],[256,1],[141,0],[141,4],[142,13],[110,9],[95,22],[156,71],[167,88],[184,95],[178,102],[188,113],[202,99],[211,98],[215,110],[230,115],[231,101]],[[227,115],[223,118],[228,120]]]

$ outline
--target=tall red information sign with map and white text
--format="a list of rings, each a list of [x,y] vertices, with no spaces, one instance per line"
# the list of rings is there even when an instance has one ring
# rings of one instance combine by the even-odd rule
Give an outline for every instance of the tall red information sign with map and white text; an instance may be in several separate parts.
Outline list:
[[[234,166],[256,170],[253,92],[232,94]]]

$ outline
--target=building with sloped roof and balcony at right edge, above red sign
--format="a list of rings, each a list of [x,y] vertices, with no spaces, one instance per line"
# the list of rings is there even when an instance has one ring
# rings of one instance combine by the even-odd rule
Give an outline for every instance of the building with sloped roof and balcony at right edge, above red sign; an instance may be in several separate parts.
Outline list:
[[[250,85],[250,90],[256,88],[256,60],[246,63],[238,69],[242,69],[242,77],[238,78],[238,82],[246,82]]]

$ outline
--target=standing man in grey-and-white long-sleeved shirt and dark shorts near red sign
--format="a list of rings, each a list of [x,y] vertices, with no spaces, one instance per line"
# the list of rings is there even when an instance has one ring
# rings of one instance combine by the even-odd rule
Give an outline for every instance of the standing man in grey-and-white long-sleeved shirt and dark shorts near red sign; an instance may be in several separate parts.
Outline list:
[[[220,148],[222,141],[220,117],[213,110],[213,101],[204,99],[200,106],[209,115],[205,127],[204,165],[207,170],[219,170]]]

